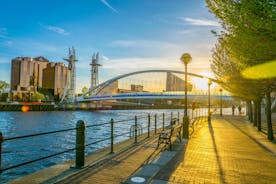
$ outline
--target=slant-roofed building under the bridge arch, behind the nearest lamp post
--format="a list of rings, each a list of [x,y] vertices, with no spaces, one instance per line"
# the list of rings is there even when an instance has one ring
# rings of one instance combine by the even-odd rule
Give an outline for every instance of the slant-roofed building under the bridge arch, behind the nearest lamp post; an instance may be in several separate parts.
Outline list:
[[[185,91],[185,80],[167,72],[166,91]],[[192,84],[187,83],[187,91],[192,91]]]

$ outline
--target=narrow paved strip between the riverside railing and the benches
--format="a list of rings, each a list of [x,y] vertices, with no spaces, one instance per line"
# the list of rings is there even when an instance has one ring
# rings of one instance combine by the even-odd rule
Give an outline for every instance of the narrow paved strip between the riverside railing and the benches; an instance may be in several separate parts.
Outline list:
[[[87,183],[87,184],[118,184],[125,181],[153,153],[156,139],[146,141],[132,149],[124,151],[102,164],[86,168],[80,173],[66,178],[58,183]]]

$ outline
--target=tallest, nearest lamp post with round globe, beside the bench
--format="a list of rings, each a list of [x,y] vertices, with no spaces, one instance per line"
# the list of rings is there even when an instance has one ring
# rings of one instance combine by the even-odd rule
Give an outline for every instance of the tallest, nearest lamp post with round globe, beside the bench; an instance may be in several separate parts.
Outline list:
[[[187,99],[187,65],[191,62],[192,57],[189,53],[184,53],[180,60],[185,65],[185,109],[182,125],[182,137],[185,139],[189,138],[189,117],[188,117],[188,99]]]

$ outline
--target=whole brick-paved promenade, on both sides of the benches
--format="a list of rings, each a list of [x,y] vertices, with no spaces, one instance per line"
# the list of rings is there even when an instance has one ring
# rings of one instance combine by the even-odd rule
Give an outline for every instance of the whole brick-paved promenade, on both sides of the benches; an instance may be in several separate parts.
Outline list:
[[[105,162],[63,180],[59,178],[44,183],[131,183],[131,176],[139,176],[145,166],[154,165],[155,161],[142,166],[155,152],[156,145],[156,138],[142,141],[132,149],[114,154]],[[164,151],[161,155],[165,152],[169,153]],[[245,117],[215,116],[210,124],[198,122],[188,143],[176,142],[170,153],[175,154],[164,167],[148,178],[140,177],[158,184],[276,183],[276,144],[268,141]],[[151,171],[146,175],[149,173]],[[32,181],[31,177],[26,179]],[[22,181],[24,178],[11,183]]]

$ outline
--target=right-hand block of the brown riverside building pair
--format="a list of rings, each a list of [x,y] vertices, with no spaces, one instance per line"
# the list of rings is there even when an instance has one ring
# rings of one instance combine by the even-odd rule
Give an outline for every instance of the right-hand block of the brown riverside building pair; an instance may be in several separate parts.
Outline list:
[[[64,63],[48,63],[43,70],[42,88],[52,92],[56,99],[60,99],[66,88],[69,72]]]

